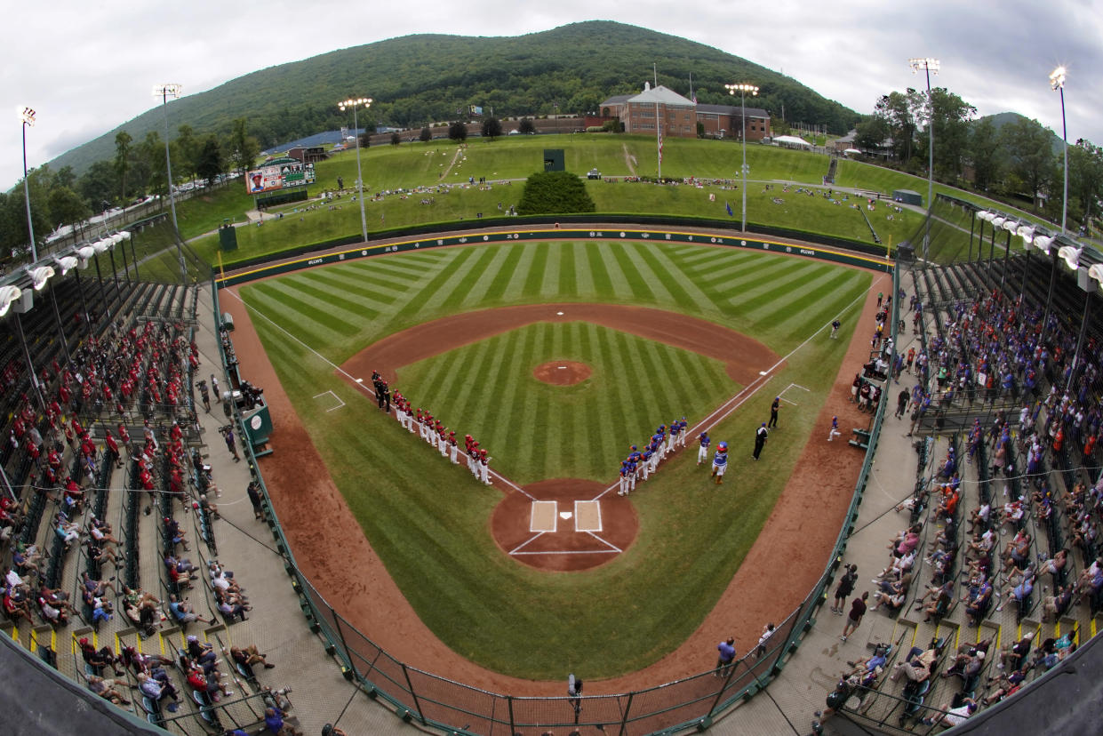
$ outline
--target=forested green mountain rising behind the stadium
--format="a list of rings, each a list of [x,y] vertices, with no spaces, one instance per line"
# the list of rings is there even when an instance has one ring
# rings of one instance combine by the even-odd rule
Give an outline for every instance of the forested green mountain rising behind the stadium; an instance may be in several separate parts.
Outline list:
[[[757,106],[775,117],[784,105],[793,122],[820,124],[843,134],[858,115],[777,72],[717,49],[611,21],[572,23],[511,38],[420,34],[342,49],[232,79],[208,92],[169,103],[173,138],[178,126],[196,135],[228,136],[235,118],[247,118],[261,148],[319,130],[350,125],[336,102],[373,97],[371,118],[381,125],[419,127],[456,119],[470,105],[493,107],[499,117],[585,114],[610,95],[639,92],[652,81],[699,103],[729,104],[725,83],[761,88]],[[186,82],[186,79],[184,81]],[[558,107],[556,107],[558,106]],[[365,125],[364,117],[360,119]],[[69,166],[79,175],[115,156],[115,136],[142,140],[162,130],[158,108],[64,153],[50,167]]]

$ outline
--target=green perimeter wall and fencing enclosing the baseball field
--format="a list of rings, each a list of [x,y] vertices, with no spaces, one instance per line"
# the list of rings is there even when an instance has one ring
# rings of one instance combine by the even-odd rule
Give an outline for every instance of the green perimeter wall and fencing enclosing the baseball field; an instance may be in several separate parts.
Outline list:
[[[297,258],[268,266],[258,266],[213,279],[214,314],[221,329],[222,312],[218,307],[218,288],[244,284],[258,278],[276,276],[302,268],[342,263],[387,253],[401,253],[426,247],[448,247],[476,243],[501,243],[517,239],[633,239],[660,243],[694,243],[802,255],[834,263],[847,264],[872,270],[892,270],[893,294],[899,280],[892,264],[854,253],[824,247],[796,246],[761,238],[735,238],[699,232],[628,228],[592,231],[588,228],[536,228],[525,231],[480,232],[441,238],[409,238],[370,247],[325,254],[314,258]],[[899,299],[893,300],[892,334],[899,318]],[[233,335],[231,335],[233,337]],[[219,341],[219,358],[226,371],[226,356]],[[259,482],[277,550],[285,558],[285,568],[292,587],[299,594],[300,606],[310,629],[323,637],[326,651],[339,658],[342,672],[353,687],[362,689],[370,697],[383,698],[396,714],[416,719],[422,726],[449,734],[486,734],[512,736],[524,729],[556,727],[601,726],[617,728],[620,734],[673,734],[687,728],[706,728],[713,721],[739,703],[763,690],[777,676],[796,651],[804,634],[815,623],[820,607],[827,599],[828,588],[840,564],[847,537],[858,518],[858,504],[866,488],[870,467],[880,437],[887,402],[881,402],[870,428],[869,448],[866,452],[855,492],[847,509],[846,521],[839,530],[820,580],[802,604],[778,626],[769,640],[767,651],[756,657],[753,651],[731,668],[726,676],[717,678],[714,670],[655,687],[615,695],[563,697],[520,697],[492,693],[454,682],[447,678],[419,670],[390,657],[365,633],[349,623],[299,569],[293,552],[276,516],[268,489],[257,470],[253,448],[246,445],[249,467]],[[237,416],[243,433],[242,417]],[[247,435],[243,435],[247,436]]]

